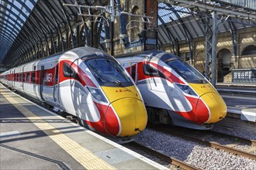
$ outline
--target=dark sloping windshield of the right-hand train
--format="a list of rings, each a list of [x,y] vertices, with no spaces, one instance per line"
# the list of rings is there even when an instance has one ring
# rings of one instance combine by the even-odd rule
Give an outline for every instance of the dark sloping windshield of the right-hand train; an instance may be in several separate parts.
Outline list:
[[[171,69],[175,70],[176,73],[182,76],[182,78],[188,83],[207,83],[206,78],[185,61],[174,59],[165,63],[167,63]]]

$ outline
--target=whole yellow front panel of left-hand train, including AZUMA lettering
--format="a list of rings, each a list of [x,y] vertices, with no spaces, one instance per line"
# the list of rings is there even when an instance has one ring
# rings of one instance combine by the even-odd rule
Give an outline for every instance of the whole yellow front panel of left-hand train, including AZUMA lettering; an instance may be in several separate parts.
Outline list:
[[[120,137],[132,136],[146,128],[147,111],[135,86],[102,87],[102,90],[118,114],[121,124]]]

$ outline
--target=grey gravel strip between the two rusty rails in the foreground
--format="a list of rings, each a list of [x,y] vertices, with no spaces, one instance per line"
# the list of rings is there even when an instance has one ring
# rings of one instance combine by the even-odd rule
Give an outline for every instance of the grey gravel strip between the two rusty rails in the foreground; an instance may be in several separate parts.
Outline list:
[[[146,129],[138,135],[136,141],[201,169],[256,169],[256,161],[249,158],[157,131]]]

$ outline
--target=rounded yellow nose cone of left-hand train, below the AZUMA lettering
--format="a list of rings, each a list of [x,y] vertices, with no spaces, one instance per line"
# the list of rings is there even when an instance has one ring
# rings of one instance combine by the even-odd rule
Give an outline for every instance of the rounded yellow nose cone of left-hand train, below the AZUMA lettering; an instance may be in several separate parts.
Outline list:
[[[141,100],[136,98],[123,98],[112,103],[112,107],[119,117],[119,136],[132,136],[143,131],[147,125],[147,112]],[[108,111],[107,111],[108,113]],[[106,115],[106,122],[111,122],[112,117]],[[106,125],[107,131],[112,131],[112,126]]]

